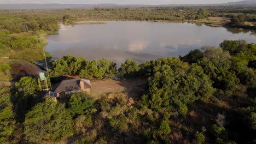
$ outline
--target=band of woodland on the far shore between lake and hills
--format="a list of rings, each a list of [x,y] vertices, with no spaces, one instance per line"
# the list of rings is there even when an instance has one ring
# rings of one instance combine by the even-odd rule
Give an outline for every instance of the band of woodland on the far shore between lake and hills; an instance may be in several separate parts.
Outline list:
[[[2,10],[0,29],[11,32],[56,31],[57,21],[74,25],[77,20],[137,20],[190,21],[207,17],[228,17],[229,27],[255,28],[256,11],[253,5],[152,7],[152,8],[95,8],[61,10]],[[30,13],[33,13],[31,15]],[[8,19],[7,19],[8,17]],[[236,18],[237,17],[237,18]],[[243,17],[243,19],[240,19]],[[245,22],[251,22],[250,24]]]

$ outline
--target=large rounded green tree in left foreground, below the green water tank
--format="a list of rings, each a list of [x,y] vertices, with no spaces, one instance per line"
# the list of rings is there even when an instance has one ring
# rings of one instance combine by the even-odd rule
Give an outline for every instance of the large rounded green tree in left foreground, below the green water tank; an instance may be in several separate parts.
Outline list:
[[[26,114],[24,128],[25,139],[30,143],[58,142],[73,133],[73,122],[64,104],[46,97],[44,103],[37,104]]]

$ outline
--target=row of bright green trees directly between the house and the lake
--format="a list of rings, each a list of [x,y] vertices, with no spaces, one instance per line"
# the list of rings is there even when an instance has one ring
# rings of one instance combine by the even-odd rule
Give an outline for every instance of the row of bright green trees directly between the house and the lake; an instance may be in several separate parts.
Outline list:
[[[85,61],[83,57],[64,56],[53,62],[50,75],[52,77],[80,75],[83,78],[95,77],[97,79],[106,76],[113,79],[116,71],[116,64],[106,59]]]

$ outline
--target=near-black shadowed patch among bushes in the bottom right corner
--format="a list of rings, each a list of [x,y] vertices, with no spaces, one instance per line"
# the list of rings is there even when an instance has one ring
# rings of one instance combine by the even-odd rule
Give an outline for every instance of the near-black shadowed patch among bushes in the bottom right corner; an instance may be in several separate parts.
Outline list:
[[[206,103],[205,101],[196,101],[190,105],[190,111],[184,118],[184,124],[191,128],[187,132],[187,136],[191,137],[191,133],[195,131],[206,131],[210,141],[214,141],[210,135],[211,125],[219,125],[218,115],[224,115],[223,125],[228,131],[229,140],[237,143],[251,143],[255,139],[256,131],[250,128],[248,113],[245,109],[234,109],[225,107],[218,103]]]

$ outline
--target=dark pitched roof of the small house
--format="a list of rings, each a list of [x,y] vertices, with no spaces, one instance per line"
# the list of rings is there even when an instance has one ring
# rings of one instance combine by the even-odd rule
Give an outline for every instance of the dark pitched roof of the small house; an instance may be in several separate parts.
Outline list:
[[[71,79],[71,80],[64,80],[57,85],[54,86],[54,92],[61,93],[61,92],[71,92],[71,91],[78,91],[80,90],[80,80],[84,82],[84,89],[91,88],[90,80],[85,79]]]

